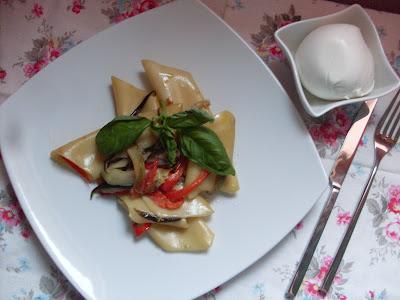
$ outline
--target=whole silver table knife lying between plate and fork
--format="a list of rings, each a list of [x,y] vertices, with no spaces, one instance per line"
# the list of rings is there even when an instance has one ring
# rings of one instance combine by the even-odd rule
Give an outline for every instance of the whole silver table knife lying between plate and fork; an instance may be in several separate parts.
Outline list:
[[[308,266],[310,265],[311,259],[314,256],[315,249],[317,248],[318,242],[335,205],[347,171],[351,166],[351,162],[353,161],[354,155],[357,151],[360,139],[368,124],[372,111],[375,108],[376,101],[377,99],[368,100],[362,104],[353,125],[346,135],[342,148],[340,149],[332,171],[329,175],[329,184],[331,188],[330,195],[325,203],[318,222],[314,228],[314,232],[311,235],[297,270],[285,294],[286,299],[294,299],[300,289],[304,276],[307,273]]]

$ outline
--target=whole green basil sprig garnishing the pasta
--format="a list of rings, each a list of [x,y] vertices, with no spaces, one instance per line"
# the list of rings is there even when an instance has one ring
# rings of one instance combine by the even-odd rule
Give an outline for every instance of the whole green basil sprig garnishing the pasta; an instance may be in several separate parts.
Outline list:
[[[200,109],[191,109],[172,116],[148,120],[132,116],[116,117],[96,136],[96,144],[104,155],[113,155],[129,148],[151,126],[159,134],[168,162],[176,161],[177,150],[191,161],[218,175],[235,175],[225,147],[211,129],[204,127],[213,117]]]

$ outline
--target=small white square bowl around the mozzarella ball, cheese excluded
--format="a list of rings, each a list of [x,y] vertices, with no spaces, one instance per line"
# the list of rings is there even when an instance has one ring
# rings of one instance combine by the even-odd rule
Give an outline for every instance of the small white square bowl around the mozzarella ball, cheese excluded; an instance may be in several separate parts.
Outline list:
[[[317,27],[336,23],[352,24],[359,27],[365,42],[371,50],[375,61],[375,86],[371,93],[364,97],[347,100],[323,100],[312,95],[301,84],[294,59],[298,46]],[[282,27],[275,32],[275,39],[285,52],[290,63],[299,99],[305,110],[313,117],[319,117],[342,105],[382,97],[400,86],[399,78],[386,58],[374,23],[358,4],[335,14],[308,19]]]

